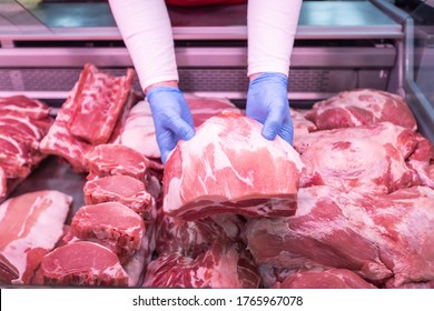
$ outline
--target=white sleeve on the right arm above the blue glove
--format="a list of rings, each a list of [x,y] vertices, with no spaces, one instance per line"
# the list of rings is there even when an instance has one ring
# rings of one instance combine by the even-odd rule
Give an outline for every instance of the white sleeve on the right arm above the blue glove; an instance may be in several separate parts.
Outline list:
[[[248,70],[288,76],[302,0],[249,0]]]

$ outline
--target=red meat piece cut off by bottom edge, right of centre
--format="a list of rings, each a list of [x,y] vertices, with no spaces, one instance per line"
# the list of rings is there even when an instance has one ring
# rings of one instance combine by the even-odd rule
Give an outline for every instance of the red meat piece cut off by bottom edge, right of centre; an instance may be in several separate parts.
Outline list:
[[[289,274],[275,289],[376,289],[347,269],[306,270]]]

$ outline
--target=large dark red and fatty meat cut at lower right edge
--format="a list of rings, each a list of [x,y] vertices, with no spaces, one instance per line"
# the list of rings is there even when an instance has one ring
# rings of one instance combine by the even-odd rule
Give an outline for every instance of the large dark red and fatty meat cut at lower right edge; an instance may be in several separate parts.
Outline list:
[[[292,218],[249,220],[245,237],[259,264],[349,269],[376,284],[434,279],[434,190],[391,194],[300,189]]]

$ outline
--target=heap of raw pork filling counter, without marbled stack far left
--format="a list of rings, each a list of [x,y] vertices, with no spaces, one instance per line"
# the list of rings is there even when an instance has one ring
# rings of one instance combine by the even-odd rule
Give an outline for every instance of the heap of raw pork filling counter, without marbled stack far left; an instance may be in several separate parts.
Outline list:
[[[49,189],[4,201],[1,283],[434,288],[434,146],[402,98],[292,109],[292,147],[227,100],[187,96],[196,136],[164,167],[132,76],[87,64],[43,128],[36,150],[83,175],[85,204]]]

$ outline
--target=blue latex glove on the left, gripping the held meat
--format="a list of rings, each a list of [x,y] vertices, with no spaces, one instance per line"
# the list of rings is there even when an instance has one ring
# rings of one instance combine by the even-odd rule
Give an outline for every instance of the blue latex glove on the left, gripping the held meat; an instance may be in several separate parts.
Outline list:
[[[161,161],[166,163],[179,140],[195,136],[190,108],[183,92],[175,87],[154,87],[147,92],[156,129]]]

